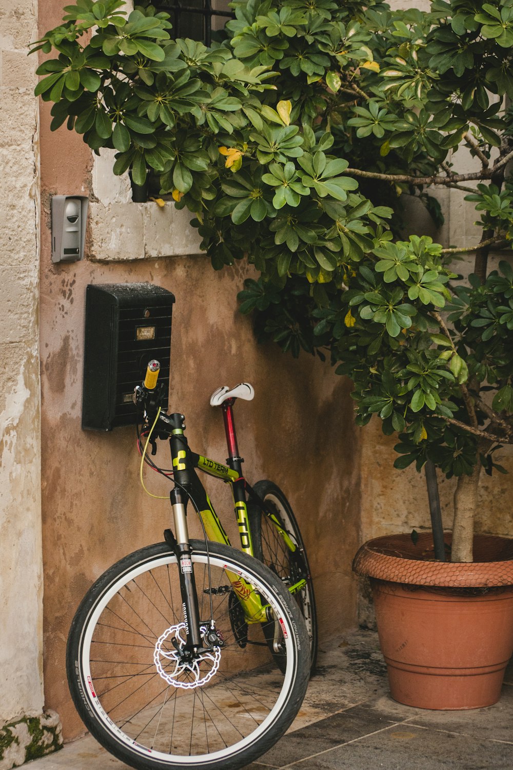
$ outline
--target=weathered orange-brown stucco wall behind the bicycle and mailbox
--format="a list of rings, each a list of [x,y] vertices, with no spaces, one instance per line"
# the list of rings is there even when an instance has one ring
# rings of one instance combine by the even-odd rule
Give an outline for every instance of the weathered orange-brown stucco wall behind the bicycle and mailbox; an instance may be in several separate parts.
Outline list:
[[[42,27],[61,18],[62,5],[45,5]],[[172,218],[171,206],[126,203],[127,189],[109,176],[108,163],[93,166],[81,138],[66,129],[52,134],[48,105],[41,110],[45,702],[58,711],[70,738],[83,731],[65,684],[65,639],[75,608],[106,567],[161,541],[170,523],[168,504],[146,497],[139,485],[133,427],[111,434],[81,429],[87,284],[151,281],[175,293],[170,406],[185,413],[193,449],[225,460],[222,416],[208,399],[225,383],[254,385],[255,400],[236,407],[245,474],[250,481],[271,477],[285,490],[310,545],[314,578],[329,564],[340,588],[334,596],[318,582],[321,641],[355,623],[358,450],[348,382],[313,357],[295,361],[275,346],[255,343],[251,320],[238,313],[235,300],[252,269],[239,263],[216,273],[205,256],[194,254],[197,236],[183,217]],[[92,196],[82,262],[52,265],[52,194]],[[152,256],[177,249],[192,254]],[[166,450],[163,444],[158,457]],[[148,483],[156,494],[168,491],[158,478]],[[215,482],[209,490],[236,542],[229,490]],[[199,534],[193,517],[191,531]]]

